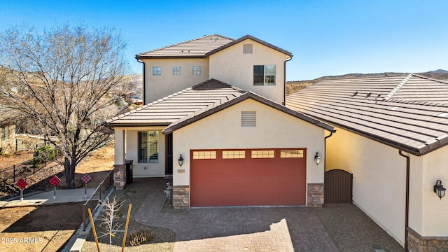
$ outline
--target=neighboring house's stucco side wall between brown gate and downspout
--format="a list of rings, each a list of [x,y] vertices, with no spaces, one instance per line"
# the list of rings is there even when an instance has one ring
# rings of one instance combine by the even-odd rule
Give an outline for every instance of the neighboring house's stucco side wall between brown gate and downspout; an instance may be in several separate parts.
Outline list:
[[[405,241],[406,160],[398,150],[346,130],[327,141],[327,170],[353,174],[353,203]]]

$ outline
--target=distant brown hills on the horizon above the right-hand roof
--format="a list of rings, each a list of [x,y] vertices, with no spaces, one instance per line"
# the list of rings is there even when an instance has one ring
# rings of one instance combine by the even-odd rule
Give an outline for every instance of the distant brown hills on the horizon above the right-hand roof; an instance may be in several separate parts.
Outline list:
[[[304,87],[313,85],[322,80],[334,80],[334,79],[344,79],[344,78],[372,78],[381,76],[405,76],[407,73],[347,73],[340,76],[323,76],[315,78],[314,80],[293,80],[286,81],[286,94],[292,94],[297,92]],[[437,80],[448,80],[448,71],[443,69],[437,69],[435,71],[427,71],[425,73],[416,73],[421,76],[428,78],[435,78]]]

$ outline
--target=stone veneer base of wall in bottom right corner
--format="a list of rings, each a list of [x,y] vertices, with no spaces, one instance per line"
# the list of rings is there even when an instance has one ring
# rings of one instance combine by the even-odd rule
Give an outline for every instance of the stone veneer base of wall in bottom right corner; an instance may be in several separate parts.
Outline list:
[[[448,252],[448,237],[422,237],[412,228],[407,228],[407,250],[409,252]]]

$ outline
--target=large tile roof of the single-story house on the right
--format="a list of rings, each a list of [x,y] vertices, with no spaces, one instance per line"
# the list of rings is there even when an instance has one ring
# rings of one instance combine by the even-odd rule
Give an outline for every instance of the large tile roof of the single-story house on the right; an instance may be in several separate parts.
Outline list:
[[[286,106],[414,155],[448,144],[448,83],[416,74],[323,80]]]

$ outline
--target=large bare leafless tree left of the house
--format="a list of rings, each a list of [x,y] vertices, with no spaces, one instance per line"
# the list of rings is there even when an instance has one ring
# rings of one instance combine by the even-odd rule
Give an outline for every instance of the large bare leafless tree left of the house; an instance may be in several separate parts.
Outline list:
[[[109,144],[103,122],[120,112],[129,63],[114,29],[57,25],[38,32],[11,27],[0,34],[0,104],[62,146],[68,188],[78,163]]]

